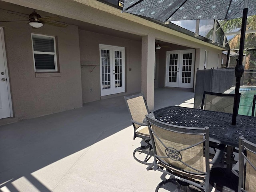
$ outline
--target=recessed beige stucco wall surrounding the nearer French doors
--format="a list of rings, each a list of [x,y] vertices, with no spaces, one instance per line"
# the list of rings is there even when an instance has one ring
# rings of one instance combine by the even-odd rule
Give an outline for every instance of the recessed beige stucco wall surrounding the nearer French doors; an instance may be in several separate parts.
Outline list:
[[[125,48],[126,93],[141,90],[141,42],[79,30],[83,103],[100,100],[99,44]],[[131,68],[131,70],[129,70]]]

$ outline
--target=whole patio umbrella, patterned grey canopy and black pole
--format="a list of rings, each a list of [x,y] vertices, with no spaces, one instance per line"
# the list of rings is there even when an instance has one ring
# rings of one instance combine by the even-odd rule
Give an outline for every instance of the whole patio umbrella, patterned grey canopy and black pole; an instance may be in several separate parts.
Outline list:
[[[236,125],[240,79],[244,73],[243,52],[247,16],[256,14],[256,0],[124,0],[122,12],[146,16],[161,22],[174,20],[218,19],[242,17],[239,56],[235,67],[236,89],[232,125]]]

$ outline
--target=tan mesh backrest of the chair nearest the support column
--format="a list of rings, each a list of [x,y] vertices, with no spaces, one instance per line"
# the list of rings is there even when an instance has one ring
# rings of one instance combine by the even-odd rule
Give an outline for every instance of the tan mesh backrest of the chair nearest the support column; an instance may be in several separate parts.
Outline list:
[[[145,116],[149,114],[148,106],[143,94],[140,93],[132,96],[124,96],[124,99],[132,120],[142,123]],[[135,123],[133,123],[133,125],[136,129],[141,126]]]

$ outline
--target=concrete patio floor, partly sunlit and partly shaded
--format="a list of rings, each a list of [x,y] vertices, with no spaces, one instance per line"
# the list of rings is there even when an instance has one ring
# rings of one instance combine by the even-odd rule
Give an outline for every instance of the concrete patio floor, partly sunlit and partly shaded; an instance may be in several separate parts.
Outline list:
[[[193,107],[193,98],[156,89],[154,109]],[[0,126],[0,191],[153,192],[164,176],[134,160],[141,139],[132,137],[123,96]]]

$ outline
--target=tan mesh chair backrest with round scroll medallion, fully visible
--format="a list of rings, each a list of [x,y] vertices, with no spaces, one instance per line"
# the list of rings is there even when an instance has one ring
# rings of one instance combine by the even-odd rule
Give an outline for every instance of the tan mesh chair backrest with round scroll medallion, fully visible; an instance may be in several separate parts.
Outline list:
[[[187,174],[190,178],[209,176],[208,127],[175,126],[149,116],[147,121],[154,151],[154,164],[157,160],[167,169],[174,170],[178,175]]]

